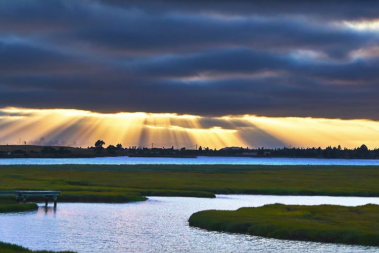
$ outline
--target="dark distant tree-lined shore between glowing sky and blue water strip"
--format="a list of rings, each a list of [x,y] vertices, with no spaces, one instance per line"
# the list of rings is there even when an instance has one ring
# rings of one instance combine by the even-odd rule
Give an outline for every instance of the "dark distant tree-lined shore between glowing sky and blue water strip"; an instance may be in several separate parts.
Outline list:
[[[196,158],[198,156],[206,157],[250,157],[250,158],[303,158],[303,159],[346,159],[346,160],[379,160],[379,155],[374,150],[366,150],[363,153],[357,153],[357,149],[352,150],[329,150],[327,155],[323,155],[326,151],[321,149],[316,152],[315,148],[283,148],[286,152],[278,152],[279,149],[244,149],[244,148],[228,148],[220,150],[179,150],[173,148],[138,148],[124,149],[116,148],[96,148],[96,147],[70,147],[70,146],[40,146],[40,145],[0,145],[0,160],[8,158],[96,158],[96,157],[172,157],[172,158]],[[358,148],[359,149],[359,148]],[[304,153],[304,150],[311,151]],[[300,153],[299,153],[300,152]],[[315,153],[316,152],[316,153]],[[342,154],[347,152],[346,154]],[[330,153],[330,154],[329,154]]]

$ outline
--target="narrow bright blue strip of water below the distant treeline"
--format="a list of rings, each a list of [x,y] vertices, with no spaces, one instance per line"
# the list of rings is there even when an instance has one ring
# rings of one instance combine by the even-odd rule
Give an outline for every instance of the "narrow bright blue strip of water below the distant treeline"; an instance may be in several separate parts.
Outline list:
[[[266,165],[379,165],[379,160],[261,158],[261,157],[96,157],[96,158],[2,158],[6,164],[266,164]]]

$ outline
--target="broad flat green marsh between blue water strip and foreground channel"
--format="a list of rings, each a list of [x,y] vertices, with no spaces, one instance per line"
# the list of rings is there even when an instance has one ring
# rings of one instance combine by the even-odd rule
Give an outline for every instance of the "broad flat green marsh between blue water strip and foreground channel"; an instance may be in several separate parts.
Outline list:
[[[58,201],[214,194],[379,196],[378,166],[1,165],[0,190],[59,190]],[[122,197],[123,196],[123,197]]]

